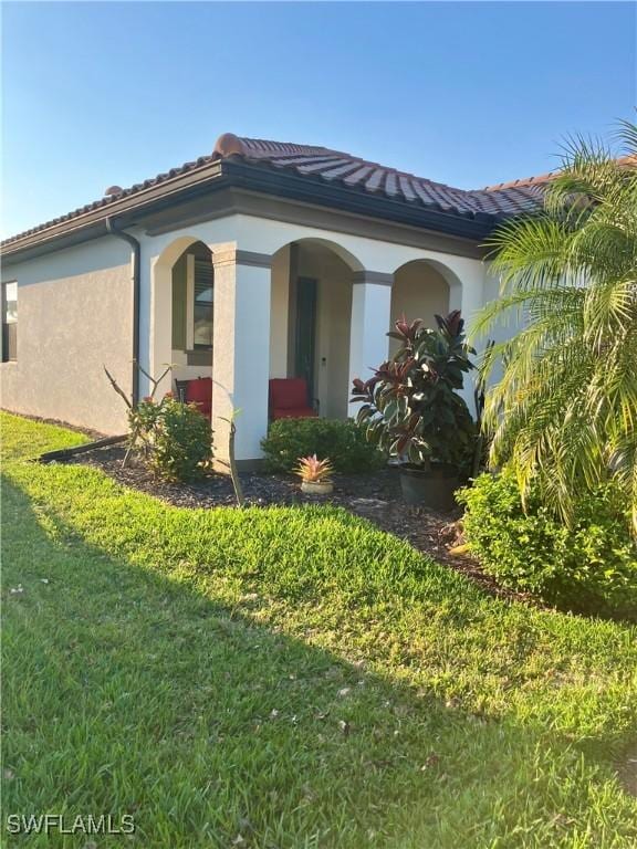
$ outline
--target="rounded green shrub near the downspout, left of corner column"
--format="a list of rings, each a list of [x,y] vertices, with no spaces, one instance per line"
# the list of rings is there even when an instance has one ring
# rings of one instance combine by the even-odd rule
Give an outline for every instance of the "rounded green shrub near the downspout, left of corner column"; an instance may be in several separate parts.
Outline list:
[[[212,430],[195,405],[169,395],[159,402],[148,397],[128,418],[132,434],[159,478],[189,481],[202,474],[212,457]]]

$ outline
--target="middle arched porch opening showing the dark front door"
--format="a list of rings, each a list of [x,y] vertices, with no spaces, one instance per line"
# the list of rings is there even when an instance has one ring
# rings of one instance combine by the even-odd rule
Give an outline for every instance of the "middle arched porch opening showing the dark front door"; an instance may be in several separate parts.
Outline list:
[[[302,377],[321,416],[347,417],[353,273],[341,245],[302,239],[273,256],[270,377]]]

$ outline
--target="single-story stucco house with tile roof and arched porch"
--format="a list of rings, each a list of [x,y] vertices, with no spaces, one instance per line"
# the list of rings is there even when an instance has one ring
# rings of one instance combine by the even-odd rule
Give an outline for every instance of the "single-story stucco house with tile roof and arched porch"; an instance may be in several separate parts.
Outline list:
[[[216,452],[232,409],[254,461],[269,379],[300,376],[345,418],[352,378],[405,314],[466,318],[497,297],[484,240],[535,210],[546,177],[463,190],[325,147],[223,134],[173,168],[2,242],[6,409],[121,433],[135,367],[212,378]],[[472,388],[466,388],[471,402]]]

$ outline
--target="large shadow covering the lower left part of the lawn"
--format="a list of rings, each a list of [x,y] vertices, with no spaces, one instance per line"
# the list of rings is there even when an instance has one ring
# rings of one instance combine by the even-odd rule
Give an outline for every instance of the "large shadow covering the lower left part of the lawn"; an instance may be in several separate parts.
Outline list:
[[[113,558],[8,482],[3,513],[6,815],[132,814],[96,845],[145,849],[571,846],[591,818],[606,776],[546,729],[260,626],[259,598]]]

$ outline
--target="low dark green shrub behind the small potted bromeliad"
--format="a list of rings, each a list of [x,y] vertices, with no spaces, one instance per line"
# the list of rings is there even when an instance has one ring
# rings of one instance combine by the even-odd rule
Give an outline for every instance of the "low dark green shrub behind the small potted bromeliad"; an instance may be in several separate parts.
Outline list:
[[[337,472],[366,472],[385,462],[355,422],[337,419],[278,419],[261,448],[272,472],[292,472],[300,457],[312,454],[328,457]]]

